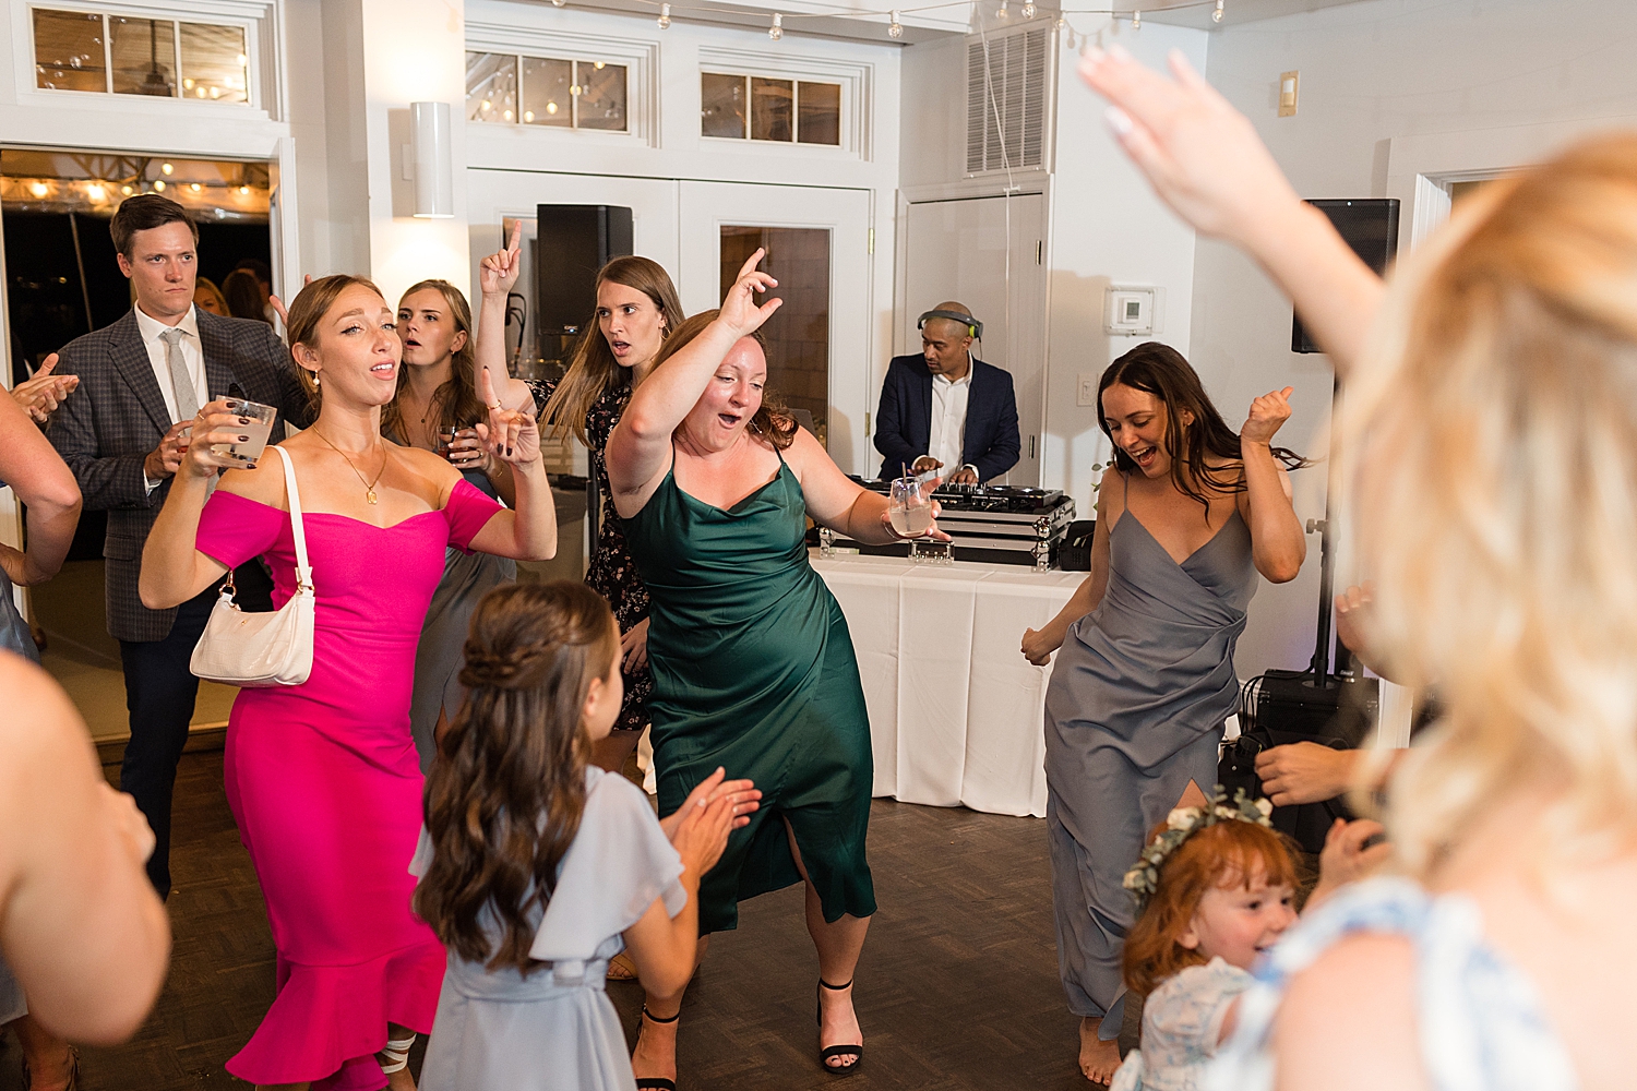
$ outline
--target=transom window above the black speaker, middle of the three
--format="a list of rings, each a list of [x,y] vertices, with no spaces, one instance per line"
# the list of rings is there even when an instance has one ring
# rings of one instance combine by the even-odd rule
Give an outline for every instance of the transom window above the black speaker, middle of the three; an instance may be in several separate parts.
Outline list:
[[[624,64],[467,52],[467,121],[625,132]]]

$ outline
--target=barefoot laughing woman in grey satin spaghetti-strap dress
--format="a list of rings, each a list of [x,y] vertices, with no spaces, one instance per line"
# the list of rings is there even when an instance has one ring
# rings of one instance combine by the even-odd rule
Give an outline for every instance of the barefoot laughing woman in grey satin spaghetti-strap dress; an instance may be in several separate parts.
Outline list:
[[[1156,823],[1215,787],[1257,572],[1295,579],[1306,554],[1285,473],[1305,463],[1270,443],[1288,396],[1257,397],[1236,435],[1174,348],[1115,360],[1097,393],[1115,465],[1098,487],[1092,572],[1023,636],[1031,662],[1062,649],[1046,689],[1046,826],[1058,963],[1094,1083],[1120,1066],[1125,872]]]

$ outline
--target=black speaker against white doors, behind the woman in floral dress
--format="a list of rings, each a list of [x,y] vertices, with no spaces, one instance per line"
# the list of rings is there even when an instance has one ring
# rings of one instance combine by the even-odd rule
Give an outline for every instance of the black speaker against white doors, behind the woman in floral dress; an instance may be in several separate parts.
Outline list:
[[[630,209],[540,204],[535,209],[537,322],[542,337],[575,334],[598,306],[598,270],[632,252]]]

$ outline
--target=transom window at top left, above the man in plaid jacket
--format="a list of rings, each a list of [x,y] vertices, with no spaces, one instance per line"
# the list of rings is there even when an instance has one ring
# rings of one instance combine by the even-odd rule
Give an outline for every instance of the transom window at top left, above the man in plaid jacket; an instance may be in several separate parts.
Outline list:
[[[34,8],[34,85],[247,105],[246,31],[216,23]]]

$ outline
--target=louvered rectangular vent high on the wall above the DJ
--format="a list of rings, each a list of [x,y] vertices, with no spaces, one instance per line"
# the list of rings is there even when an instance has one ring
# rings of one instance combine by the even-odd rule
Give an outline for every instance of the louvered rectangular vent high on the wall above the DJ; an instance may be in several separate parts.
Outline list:
[[[1046,167],[1051,31],[1021,29],[966,46],[966,173]]]

